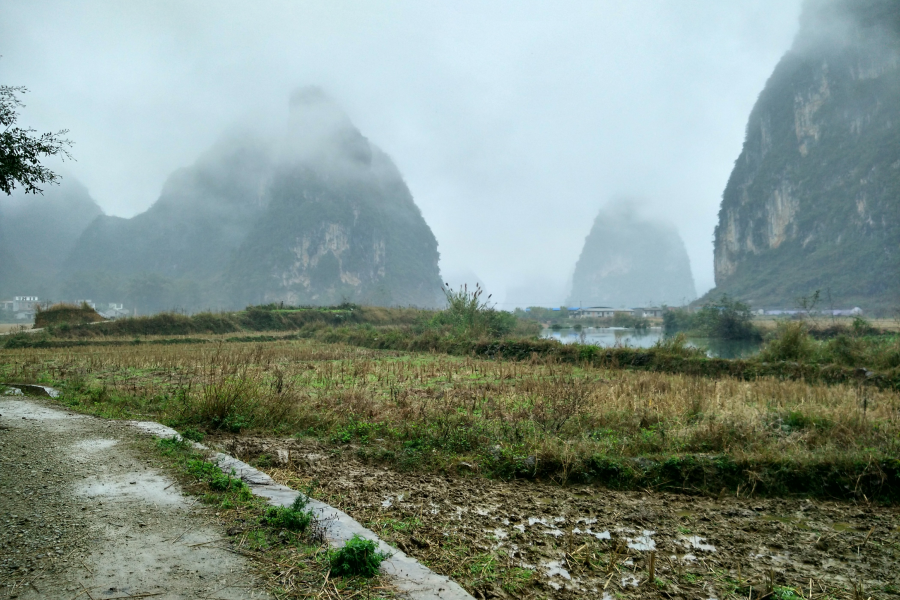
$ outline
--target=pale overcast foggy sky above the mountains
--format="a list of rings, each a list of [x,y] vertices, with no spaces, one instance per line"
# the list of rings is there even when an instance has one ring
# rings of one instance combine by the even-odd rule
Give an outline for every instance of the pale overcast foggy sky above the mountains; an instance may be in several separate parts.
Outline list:
[[[223,131],[282,122],[291,90],[316,84],[393,157],[446,275],[477,275],[501,303],[517,287],[544,294],[518,302],[562,301],[598,210],[628,196],[678,228],[703,293],[722,190],[799,12],[0,0],[0,83],[31,90],[23,123],[70,130],[67,172],[109,214],[145,210]]]

